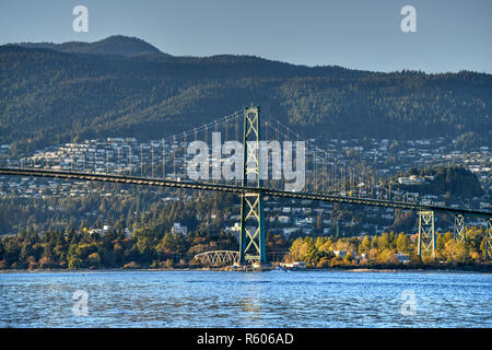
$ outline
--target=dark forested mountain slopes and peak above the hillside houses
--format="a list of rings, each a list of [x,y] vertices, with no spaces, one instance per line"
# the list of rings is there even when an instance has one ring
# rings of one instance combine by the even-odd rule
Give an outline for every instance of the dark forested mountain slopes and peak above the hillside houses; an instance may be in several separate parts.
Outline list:
[[[0,143],[23,153],[97,137],[156,139],[251,102],[306,137],[492,140],[490,74],[380,73],[151,48],[121,36],[0,46]]]

